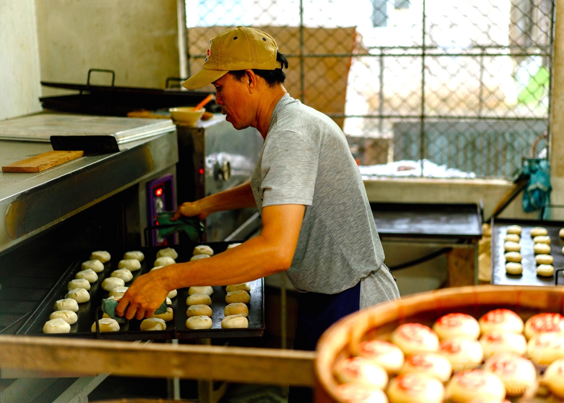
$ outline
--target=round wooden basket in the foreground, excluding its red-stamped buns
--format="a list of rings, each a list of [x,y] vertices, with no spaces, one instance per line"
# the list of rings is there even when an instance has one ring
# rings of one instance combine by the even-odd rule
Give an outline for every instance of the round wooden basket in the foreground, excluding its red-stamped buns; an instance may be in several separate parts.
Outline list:
[[[364,340],[388,340],[402,323],[432,326],[440,316],[462,312],[481,317],[488,310],[507,308],[523,321],[541,312],[564,312],[564,287],[471,286],[423,292],[374,306],[342,318],[319,339],[315,360],[317,403],[341,402],[334,394],[337,381],[333,365],[343,356],[355,355]]]

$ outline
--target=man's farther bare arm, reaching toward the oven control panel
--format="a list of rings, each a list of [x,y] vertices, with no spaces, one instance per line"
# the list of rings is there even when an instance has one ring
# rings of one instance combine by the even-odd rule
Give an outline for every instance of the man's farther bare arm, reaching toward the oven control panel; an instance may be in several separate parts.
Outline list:
[[[198,216],[201,220],[217,211],[235,210],[238,208],[257,207],[254,201],[250,182],[207,196],[193,202],[188,201],[178,207],[173,220],[180,216]]]

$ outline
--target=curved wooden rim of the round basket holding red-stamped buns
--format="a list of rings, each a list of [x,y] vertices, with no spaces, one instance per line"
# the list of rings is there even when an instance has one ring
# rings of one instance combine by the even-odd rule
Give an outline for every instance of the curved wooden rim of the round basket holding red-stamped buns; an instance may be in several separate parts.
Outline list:
[[[378,323],[377,319],[380,317],[385,318],[389,316],[401,316],[404,308],[406,306],[417,305],[417,303],[428,302],[431,300],[444,299],[451,296],[472,296],[469,299],[469,304],[472,302],[474,305],[479,304],[477,301],[478,294],[487,294],[491,292],[514,294],[515,299],[520,300],[521,294],[530,294],[531,292],[539,292],[539,294],[551,294],[558,296],[560,299],[560,309],[561,312],[564,311],[564,286],[509,286],[509,285],[492,285],[483,284],[479,286],[464,286],[464,287],[451,287],[442,288],[439,290],[419,292],[417,294],[409,295],[402,299],[397,299],[393,301],[387,301],[385,303],[377,304],[371,308],[364,309],[355,313],[351,313],[337,322],[333,323],[324,333],[321,335],[315,355],[314,370],[315,376],[318,382],[318,386],[323,388],[325,393],[333,398],[334,401],[341,402],[342,400],[338,398],[333,388],[330,387],[333,383],[332,381],[332,370],[327,370],[333,367],[334,354],[336,347],[329,343],[329,340],[337,340],[337,346],[339,350],[342,350],[351,341],[352,330],[354,325],[358,323],[371,323],[372,325],[383,325],[387,323],[383,320]],[[500,302],[502,305],[503,302]],[[424,312],[424,309],[421,310]],[[333,351],[331,351],[333,350]]]

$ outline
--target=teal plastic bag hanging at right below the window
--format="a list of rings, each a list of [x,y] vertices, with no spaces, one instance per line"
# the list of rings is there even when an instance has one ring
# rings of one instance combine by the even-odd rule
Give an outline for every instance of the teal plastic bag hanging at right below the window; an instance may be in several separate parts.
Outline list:
[[[523,164],[522,173],[529,175],[529,181],[523,193],[523,211],[530,213],[540,210],[541,220],[550,219],[550,209],[544,208],[544,217],[541,217],[541,207],[550,204],[550,165],[545,159],[528,159]]]

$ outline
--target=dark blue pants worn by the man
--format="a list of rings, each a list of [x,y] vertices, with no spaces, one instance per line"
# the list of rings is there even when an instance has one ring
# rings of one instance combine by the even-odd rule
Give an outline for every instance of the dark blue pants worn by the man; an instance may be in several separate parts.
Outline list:
[[[301,292],[298,296],[298,323],[294,350],[314,351],[325,330],[344,316],[360,308],[360,282],[338,294]],[[311,388],[290,387],[289,403],[310,403]]]

